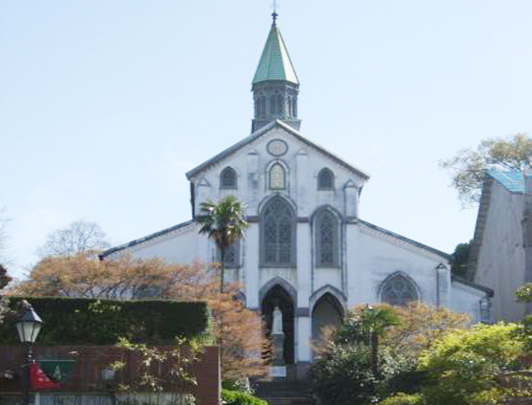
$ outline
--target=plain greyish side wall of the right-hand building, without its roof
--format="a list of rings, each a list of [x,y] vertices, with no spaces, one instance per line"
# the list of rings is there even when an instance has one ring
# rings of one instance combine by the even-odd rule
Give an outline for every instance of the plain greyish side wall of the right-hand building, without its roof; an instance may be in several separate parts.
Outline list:
[[[492,184],[475,282],[494,291],[493,321],[520,321],[525,306],[515,301],[514,291],[524,283],[523,195]]]

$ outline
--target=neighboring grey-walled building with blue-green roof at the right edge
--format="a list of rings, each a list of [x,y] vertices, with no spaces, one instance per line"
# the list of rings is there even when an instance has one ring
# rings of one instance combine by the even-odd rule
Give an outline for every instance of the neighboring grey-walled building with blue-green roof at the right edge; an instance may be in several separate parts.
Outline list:
[[[492,321],[520,321],[525,315],[526,305],[516,302],[514,292],[532,282],[532,268],[526,264],[527,248],[532,246],[530,239],[525,242],[532,226],[527,196],[530,199],[521,172],[487,172],[468,279],[493,289]],[[531,233],[528,235],[530,238]],[[531,254],[528,260],[532,260]]]

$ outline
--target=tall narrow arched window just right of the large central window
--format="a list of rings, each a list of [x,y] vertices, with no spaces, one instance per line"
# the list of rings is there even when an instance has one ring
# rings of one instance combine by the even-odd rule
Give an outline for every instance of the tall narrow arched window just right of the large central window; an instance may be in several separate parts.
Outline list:
[[[334,267],[340,264],[338,219],[323,210],[316,218],[316,265]]]

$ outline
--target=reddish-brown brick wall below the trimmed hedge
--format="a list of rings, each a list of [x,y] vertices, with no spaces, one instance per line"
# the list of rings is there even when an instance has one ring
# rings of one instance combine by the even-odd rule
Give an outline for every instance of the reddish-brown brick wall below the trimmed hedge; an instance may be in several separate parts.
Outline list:
[[[113,382],[104,381],[102,371],[116,360],[127,363],[126,368],[117,375],[116,380],[122,383],[131,383],[136,378],[139,361],[131,353],[125,353],[112,346],[36,346],[34,358],[75,360],[72,377],[65,382],[61,391],[76,393],[109,392]],[[0,392],[21,391],[21,364],[23,360],[23,347],[0,346]],[[218,348],[207,347],[200,361],[192,367],[191,371],[198,382],[197,387],[190,389],[196,396],[197,403],[199,405],[218,405],[220,396]],[[162,373],[165,373],[164,369]],[[179,388],[167,387],[167,389],[175,391]]]

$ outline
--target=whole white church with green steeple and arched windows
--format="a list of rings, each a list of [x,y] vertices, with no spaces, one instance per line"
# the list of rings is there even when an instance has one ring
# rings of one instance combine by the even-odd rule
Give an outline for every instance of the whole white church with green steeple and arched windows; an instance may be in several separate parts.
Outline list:
[[[448,254],[359,217],[369,176],[299,131],[299,81],[275,17],[253,80],[252,133],[187,173],[192,219],[104,257],[214,262],[216,246],[194,216],[202,202],[233,195],[249,228],[226,257],[226,280],[241,283],[267,324],[280,308],[287,364],[311,362],[321,327],[357,304],[420,300],[489,319],[491,291],[451,277]]]

